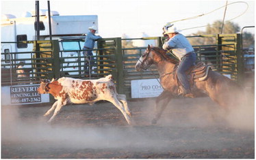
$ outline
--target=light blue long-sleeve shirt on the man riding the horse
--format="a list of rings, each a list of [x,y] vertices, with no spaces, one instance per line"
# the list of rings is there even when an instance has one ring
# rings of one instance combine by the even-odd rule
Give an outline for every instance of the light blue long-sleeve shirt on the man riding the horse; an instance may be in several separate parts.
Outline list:
[[[172,53],[175,54],[179,60],[181,60],[185,54],[194,51],[194,48],[191,46],[190,42],[188,42],[188,39],[180,33],[164,43],[163,49],[166,50],[167,48],[172,49]]]

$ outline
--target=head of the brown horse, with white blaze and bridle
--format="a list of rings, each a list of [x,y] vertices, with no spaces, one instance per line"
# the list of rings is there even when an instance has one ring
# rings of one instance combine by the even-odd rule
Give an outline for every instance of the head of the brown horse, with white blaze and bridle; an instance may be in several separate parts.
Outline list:
[[[148,46],[148,48],[146,48],[145,52],[142,54],[142,56],[136,63],[135,68],[137,71],[141,71],[142,69],[146,70],[153,64],[154,61],[152,57],[151,48],[152,46]]]

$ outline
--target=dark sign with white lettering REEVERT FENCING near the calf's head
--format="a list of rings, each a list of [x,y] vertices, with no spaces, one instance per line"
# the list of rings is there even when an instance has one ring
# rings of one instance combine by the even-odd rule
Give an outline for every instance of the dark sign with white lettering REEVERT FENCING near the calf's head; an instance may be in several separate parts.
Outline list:
[[[41,95],[37,89],[39,85],[10,86],[11,104],[41,103]]]

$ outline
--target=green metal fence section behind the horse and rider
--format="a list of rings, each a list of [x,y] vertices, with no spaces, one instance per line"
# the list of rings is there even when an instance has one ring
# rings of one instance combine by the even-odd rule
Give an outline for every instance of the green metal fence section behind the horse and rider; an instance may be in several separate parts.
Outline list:
[[[244,61],[242,59],[240,34],[200,35],[200,37],[214,37],[217,43],[214,45],[193,46],[196,50],[198,61],[211,65],[212,69],[220,74],[224,74],[240,83],[243,82]],[[141,39],[146,40],[149,38]],[[155,39],[157,46],[162,47],[164,42],[162,37],[151,37],[150,39]],[[123,87],[128,98],[131,98],[131,80],[159,78],[154,66],[147,71],[136,71],[134,68],[144,50],[146,50],[146,47],[122,48],[124,83],[118,87]],[[172,57],[171,54],[169,56]]]

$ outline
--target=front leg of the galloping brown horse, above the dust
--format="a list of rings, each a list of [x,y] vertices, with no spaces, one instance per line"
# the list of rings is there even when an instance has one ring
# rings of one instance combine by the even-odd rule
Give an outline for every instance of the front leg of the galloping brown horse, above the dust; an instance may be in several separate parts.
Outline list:
[[[155,125],[157,121],[159,120],[160,116],[162,115],[162,112],[166,108],[168,102],[171,99],[171,94],[168,91],[163,91],[157,99],[155,99],[155,118],[152,120],[152,124]],[[159,102],[162,101],[161,104]]]

